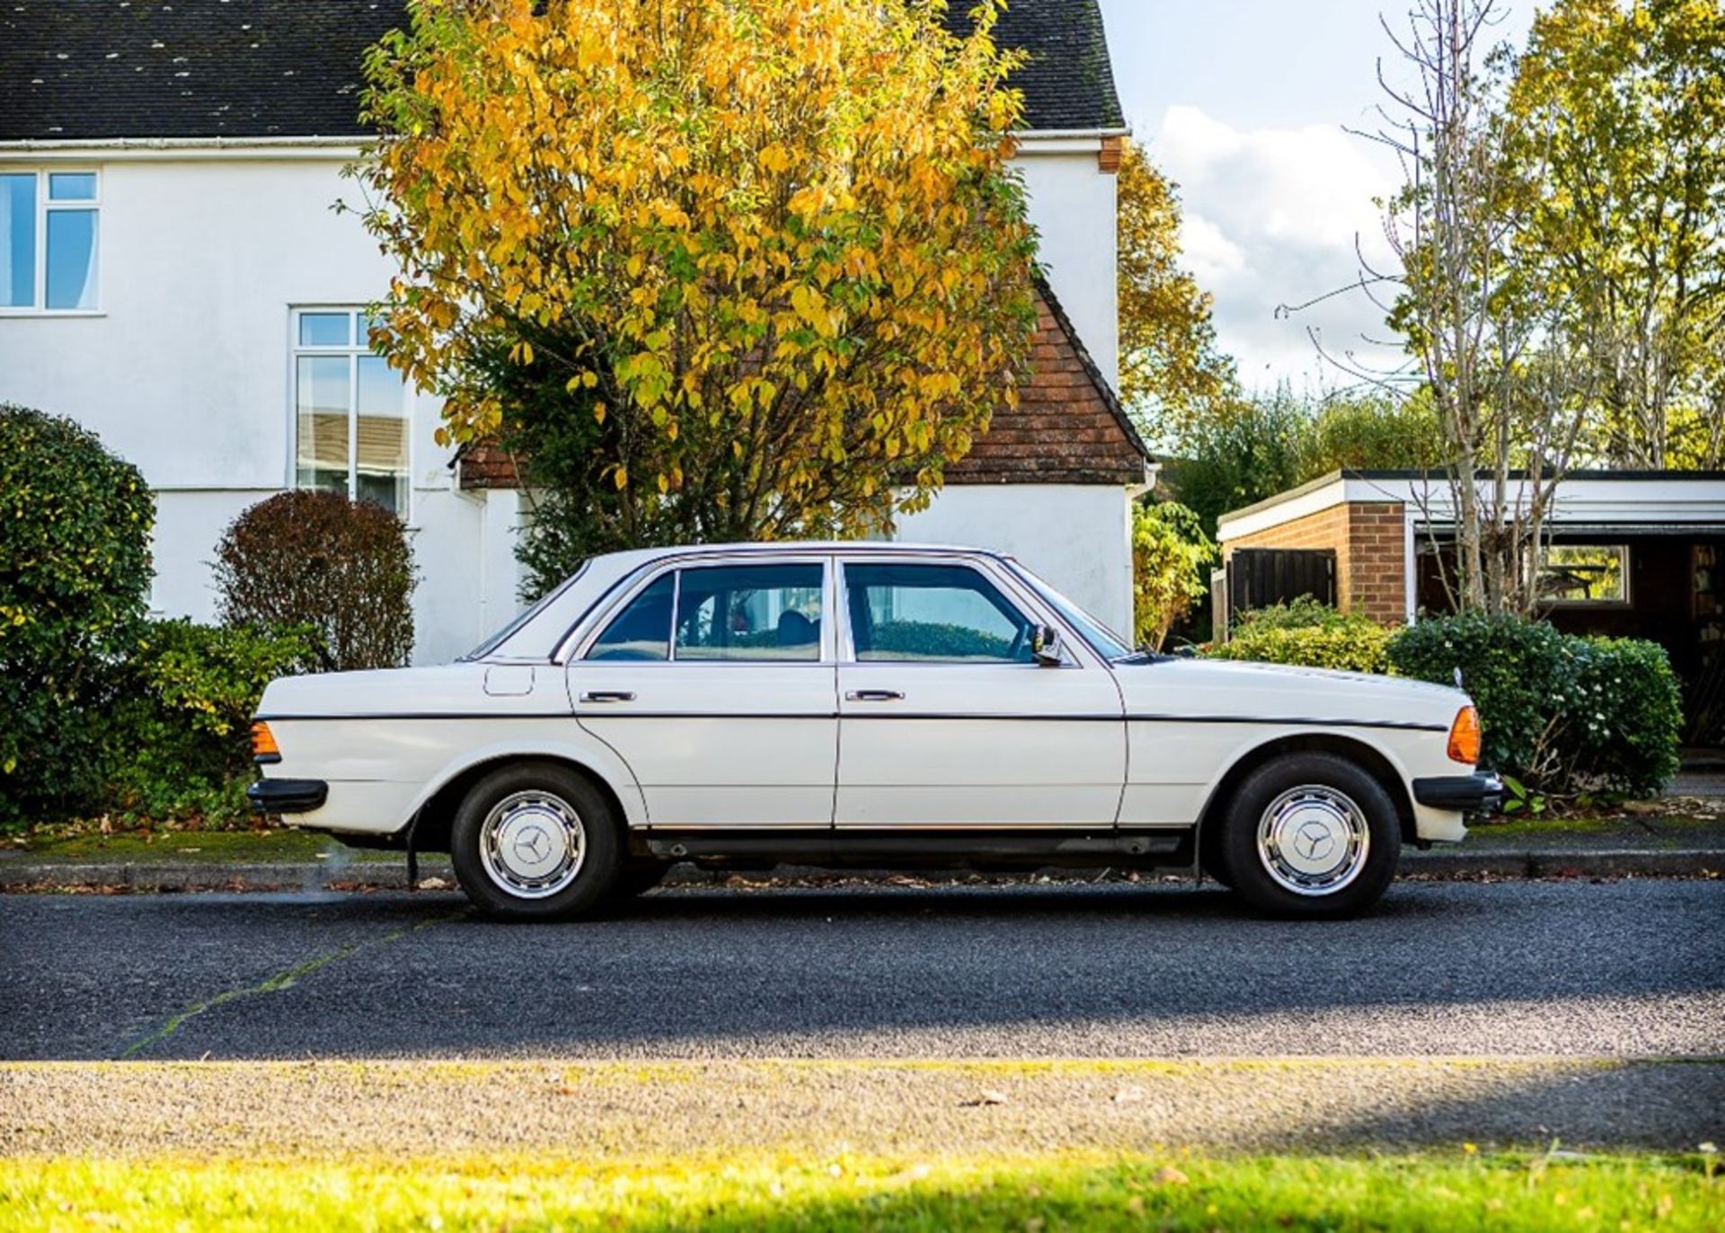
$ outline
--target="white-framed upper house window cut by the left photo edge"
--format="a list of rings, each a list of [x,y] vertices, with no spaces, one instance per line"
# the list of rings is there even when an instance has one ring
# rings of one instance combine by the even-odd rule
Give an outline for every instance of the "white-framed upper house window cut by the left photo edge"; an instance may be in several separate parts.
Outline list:
[[[0,171],[0,312],[95,312],[93,171]]]

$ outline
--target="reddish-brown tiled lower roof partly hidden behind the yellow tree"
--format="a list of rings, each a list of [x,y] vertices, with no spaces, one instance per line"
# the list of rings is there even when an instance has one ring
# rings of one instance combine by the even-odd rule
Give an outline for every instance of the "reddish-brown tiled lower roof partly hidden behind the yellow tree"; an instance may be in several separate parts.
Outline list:
[[[1054,291],[1037,286],[1037,338],[1018,407],[994,412],[949,485],[1142,485],[1149,450]],[[455,460],[464,490],[516,488],[516,460],[492,445]]]

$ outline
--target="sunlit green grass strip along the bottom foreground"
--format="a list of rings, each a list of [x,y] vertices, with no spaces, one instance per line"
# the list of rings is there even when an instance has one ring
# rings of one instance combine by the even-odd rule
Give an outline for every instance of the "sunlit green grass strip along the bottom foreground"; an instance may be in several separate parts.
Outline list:
[[[1718,1230],[1711,1157],[0,1159],[0,1228]]]

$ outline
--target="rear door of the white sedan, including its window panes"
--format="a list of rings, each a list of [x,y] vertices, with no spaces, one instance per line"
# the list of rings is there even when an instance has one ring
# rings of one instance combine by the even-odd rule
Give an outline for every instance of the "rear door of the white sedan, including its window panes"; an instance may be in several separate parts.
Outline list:
[[[643,581],[569,666],[581,726],[654,828],[828,828],[837,702],[823,557],[700,560]]]

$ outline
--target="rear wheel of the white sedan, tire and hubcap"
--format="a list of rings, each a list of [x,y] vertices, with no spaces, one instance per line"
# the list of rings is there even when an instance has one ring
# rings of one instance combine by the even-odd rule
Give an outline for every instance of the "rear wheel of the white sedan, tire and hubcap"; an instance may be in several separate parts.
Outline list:
[[[590,916],[604,907],[623,866],[619,819],[605,795],[568,766],[516,762],[467,790],[450,826],[450,862],[486,916]]]

